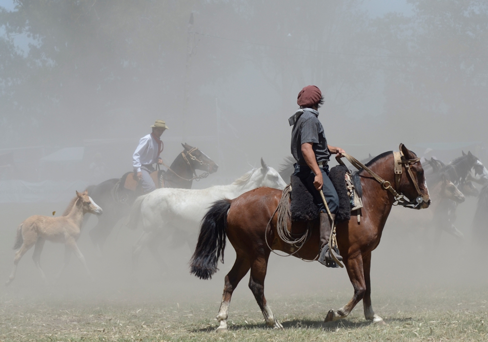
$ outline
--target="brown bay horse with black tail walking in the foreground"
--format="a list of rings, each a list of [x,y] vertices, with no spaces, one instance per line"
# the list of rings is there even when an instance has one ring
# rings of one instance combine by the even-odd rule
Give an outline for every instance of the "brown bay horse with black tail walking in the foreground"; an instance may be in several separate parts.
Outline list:
[[[402,152],[407,159],[416,158],[415,153],[409,151],[405,146],[402,146]],[[403,173],[398,188],[393,186],[395,184],[393,164],[394,156],[390,151],[372,159],[367,167],[388,181],[397,192],[408,198],[416,198],[420,192],[420,203],[417,208],[427,208],[430,198],[420,162],[410,164],[413,179],[407,173],[405,164],[402,165]],[[366,171],[359,171],[359,177],[363,187],[363,217],[360,223],[356,217],[352,217],[349,221],[337,224],[337,242],[349,279],[354,287],[354,296],[339,310],[330,310],[325,321],[335,321],[347,317],[361,299],[363,299],[366,319],[374,322],[383,321],[381,317],[374,314],[371,307],[369,268],[371,252],[380,243],[383,227],[394,203],[394,197]],[[419,192],[415,188],[415,183],[418,184]],[[384,185],[387,188],[386,183]],[[293,246],[286,244],[279,237],[277,215],[272,217],[281,196],[282,191],[280,190],[258,188],[245,192],[233,200],[222,199],[215,202],[203,218],[197,248],[190,263],[191,273],[199,278],[211,278],[217,271],[219,257],[221,255],[222,258],[224,257],[226,236],[236,251],[234,266],[225,276],[224,295],[217,315],[217,320],[220,322],[218,330],[227,328],[228,308],[232,293],[249,269],[251,270],[249,288],[263,312],[264,320],[269,326],[283,328],[274,318],[264,298],[264,277],[271,252],[267,243],[273,250],[288,254],[296,252]],[[270,228],[267,230],[266,226],[270,220]],[[307,229],[306,222],[291,224],[288,221],[288,227],[290,225],[293,233],[296,234],[304,233]],[[319,253],[318,228],[318,221],[316,221],[310,239],[294,256],[306,260],[316,258]]]

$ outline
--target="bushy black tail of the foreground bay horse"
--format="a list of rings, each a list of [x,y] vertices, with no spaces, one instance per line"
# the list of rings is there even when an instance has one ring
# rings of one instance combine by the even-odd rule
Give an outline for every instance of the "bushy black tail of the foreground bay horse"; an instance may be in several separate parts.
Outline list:
[[[218,271],[217,263],[224,249],[227,230],[227,212],[232,201],[221,199],[214,202],[203,216],[195,253],[190,259],[190,273],[200,279],[211,279]]]

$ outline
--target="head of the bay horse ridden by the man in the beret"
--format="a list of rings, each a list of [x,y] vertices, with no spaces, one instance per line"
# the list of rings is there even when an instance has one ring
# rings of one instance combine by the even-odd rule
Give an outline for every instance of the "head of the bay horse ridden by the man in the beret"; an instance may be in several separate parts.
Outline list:
[[[400,144],[400,150],[406,159],[417,159],[417,155],[408,150],[405,145]],[[408,164],[410,170],[412,171],[413,179],[406,169],[405,164],[402,165],[402,178],[400,179],[399,192],[403,193],[409,199],[413,200],[418,198],[421,201],[421,205],[417,206],[416,209],[425,209],[430,205],[430,195],[427,189],[426,177],[424,175],[424,169],[420,161]],[[418,185],[420,193],[417,192],[415,183]]]

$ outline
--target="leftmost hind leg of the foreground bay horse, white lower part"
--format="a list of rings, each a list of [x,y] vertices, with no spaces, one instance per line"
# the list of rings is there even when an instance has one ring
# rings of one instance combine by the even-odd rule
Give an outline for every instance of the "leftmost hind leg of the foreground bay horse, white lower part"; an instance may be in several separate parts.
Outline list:
[[[234,266],[232,266],[230,272],[225,276],[224,295],[222,295],[222,302],[220,304],[219,314],[217,315],[217,321],[220,323],[217,331],[227,330],[227,317],[232,293],[236,289],[237,284],[239,284],[239,281],[249,271],[250,267],[249,260],[238,254]]]

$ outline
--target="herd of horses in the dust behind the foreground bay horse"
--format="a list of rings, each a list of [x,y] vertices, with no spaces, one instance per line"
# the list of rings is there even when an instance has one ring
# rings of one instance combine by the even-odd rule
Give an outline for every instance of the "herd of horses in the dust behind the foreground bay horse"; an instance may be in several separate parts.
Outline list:
[[[184,144],[185,150],[193,149]],[[171,165],[172,170],[178,170],[186,177],[192,173],[188,170],[216,171],[216,164],[203,152],[196,150],[200,162],[196,165],[184,165],[181,154]],[[362,160],[367,163],[373,159]],[[191,179],[176,177],[169,174],[166,186],[173,188],[157,189],[146,195],[135,197],[127,189],[116,189],[119,179],[109,179],[97,186],[90,186],[85,192],[76,192],[59,217],[34,215],[24,220],[17,228],[14,249],[17,250],[14,258],[14,267],[6,285],[15,278],[17,264],[20,258],[34,247],[33,260],[42,279],[47,278],[41,268],[41,252],[46,240],[65,244],[64,262],[57,278],[59,278],[68,265],[71,254],[75,254],[81,261],[86,273],[91,277],[85,259],[81,254],[76,241],[80,237],[84,214],[99,216],[98,224],[90,231],[90,237],[97,248],[102,250],[107,236],[119,219],[127,216],[125,225],[135,229],[142,224],[142,235],[133,247],[132,260],[137,264],[142,250],[148,249],[159,263],[162,271],[167,271],[165,261],[159,256],[158,248],[161,241],[173,238],[173,242],[182,245],[187,242],[192,248],[196,244],[198,227],[205,212],[210,205],[221,198],[236,198],[244,192],[259,187],[270,187],[283,190],[286,186],[284,179],[289,179],[293,173],[294,159],[286,157],[280,171],[266,165],[261,159],[261,168],[253,169],[229,185],[213,186],[203,190],[190,190]],[[481,161],[471,152],[445,164],[439,159],[430,158],[422,160],[425,169],[427,185],[432,205],[416,215],[408,215],[408,222],[418,228],[434,229],[434,243],[438,244],[443,232],[463,240],[463,233],[456,228],[456,208],[465,201],[466,196],[477,196],[478,204],[472,221],[472,237],[477,244],[483,247],[488,243],[488,170]],[[186,166],[188,170],[183,170]],[[366,164],[367,166],[367,164]],[[169,172],[166,172],[168,174]],[[173,176],[173,178],[171,178]],[[179,181],[179,183],[178,183]],[[173,182],[173,183],[172,183]],[[478,190],[473,183],[482,185]],[[188,188],[188,189],[182,189]],[[89,196],[89,194],[91,196]],[[131,196],[133,198],[131,198]],[[123,200],[120,200],[123,197]],[[97,204],[99,203],[99,204]],[[102,215],[103,213],[103,215]],[[408,214],[408,213],[407,213]],[[405,217],[390,215],[389,223],[404,221]]]

